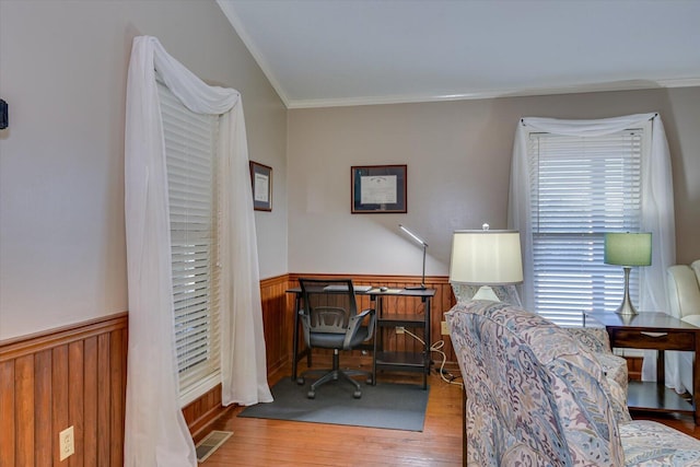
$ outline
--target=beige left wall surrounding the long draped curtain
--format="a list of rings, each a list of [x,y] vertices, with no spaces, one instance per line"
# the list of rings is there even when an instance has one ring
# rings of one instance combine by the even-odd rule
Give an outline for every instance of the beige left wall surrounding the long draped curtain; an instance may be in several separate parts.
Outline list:
[[[260,273],[287,266],[287,110],[213,0],[0,0],[0,339],[126,311],[124,118],[131,39],[156,36],[243,95],[250,159],[273,167],[256,212]]]

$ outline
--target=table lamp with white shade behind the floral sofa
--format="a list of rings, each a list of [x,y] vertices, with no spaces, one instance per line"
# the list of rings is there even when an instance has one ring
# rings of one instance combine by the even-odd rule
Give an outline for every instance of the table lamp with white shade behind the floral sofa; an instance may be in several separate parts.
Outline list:
[[[517,231],[455,231],[450,282],[481,285],[472,300],[500,302],[491,285],[523,282],[521,235]]]

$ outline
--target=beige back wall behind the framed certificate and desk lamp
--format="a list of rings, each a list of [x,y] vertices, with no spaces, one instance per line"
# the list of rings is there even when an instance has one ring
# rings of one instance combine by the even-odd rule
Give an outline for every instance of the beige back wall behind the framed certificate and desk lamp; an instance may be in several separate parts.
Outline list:
[[[672,152],[678,260],[700,258],[700,87],[289,113],[289,266],[294,272],[446,275],[452,231],[506,223],[521,117],[603,118],[660,112]],[[407,214],[351,214],[352,165],[408,164]]]

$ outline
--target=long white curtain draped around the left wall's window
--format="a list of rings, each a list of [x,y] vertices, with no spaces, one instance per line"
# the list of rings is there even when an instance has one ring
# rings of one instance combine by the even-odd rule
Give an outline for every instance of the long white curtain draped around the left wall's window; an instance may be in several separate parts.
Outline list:
[[[158,70],[158,71],[156,71]],[[271,401],[240,94],[209,86],[154,37],[133,39],[127,82],[125,215],[129,348],[125,465],[196,466],[178,399],[167,174],[155,77],[190,110],[221,115],[223,404]]]

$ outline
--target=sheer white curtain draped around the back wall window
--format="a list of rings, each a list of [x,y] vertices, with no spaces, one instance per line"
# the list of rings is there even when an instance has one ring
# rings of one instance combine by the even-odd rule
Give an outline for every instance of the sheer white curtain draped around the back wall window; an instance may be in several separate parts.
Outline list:
[[[527,163],[527,135],[541,131],[553,135],[596,137],[614,133],[652,121],[651,151],[642,160],[642,230],[652,232],[652,266],[640,268],[640,311],[666,312],[666,268],[676,262],[676,230],[670,154],[664,125],[658,114],[637,114],[598,120],[560,120],[555,118],[523,118],[515,131],[511,186],[509,195],[509,227],[521,232],[523,244],[523,304],[534,310],[533,229],[530,223],[530,187]],[[648,351],[648,357],[654,354]],[[677,355],[666,352],[666,385],[680,388]],[[644,359],[644,381],[656,378],[656,360]]]

